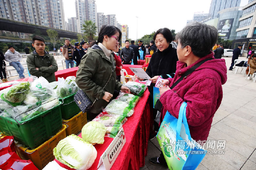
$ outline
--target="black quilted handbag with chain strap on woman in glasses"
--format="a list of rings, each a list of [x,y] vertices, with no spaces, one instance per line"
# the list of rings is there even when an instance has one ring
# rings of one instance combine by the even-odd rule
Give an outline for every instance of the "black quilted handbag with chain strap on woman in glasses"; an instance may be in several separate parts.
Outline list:
[[[111,75],[110,75],[108,81],[110,80],[110,78],[112,76],[112,72],[113,72],[113,69],[111,71]],[[108,82],[106,83],[106,85],[107,84],[108,84]],[[106,85],[103,87],[103,89],[106,87]],[[88,110],[91,109],[92,105],[95,103],[96,100],[98,100],[98,98],[96,98],[94,100],[94,102],[92,103],[92,101],[86,96],[86,94],[84,93],[83,90],[78,90],[74,96],[74,100],[82,112],[87,112]]]

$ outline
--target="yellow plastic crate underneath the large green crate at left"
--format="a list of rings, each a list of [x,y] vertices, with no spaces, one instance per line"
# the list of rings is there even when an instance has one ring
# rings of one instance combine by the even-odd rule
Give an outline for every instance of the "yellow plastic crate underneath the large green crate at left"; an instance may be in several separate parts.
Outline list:
[[[52,138],[41,144],[36,149],[30,149],[25,147],[17,147],[16,151],[21,159],[32,160],[35,166],[39,169],[43,169],[49,162],[55,159],[53,155],[53,148],[57,146],[61,139],[66,137],[66,128],[68,126],[63,124],[60,131]]]

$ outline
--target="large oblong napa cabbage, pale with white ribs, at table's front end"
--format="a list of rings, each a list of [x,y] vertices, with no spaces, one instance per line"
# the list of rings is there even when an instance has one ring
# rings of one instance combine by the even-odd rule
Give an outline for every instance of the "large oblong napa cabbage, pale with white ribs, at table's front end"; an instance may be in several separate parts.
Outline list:
[[[53,155],[61,163],[74,169],[89,169],[97,157],[97,151],[76,135],[62,139],[53,149]]]

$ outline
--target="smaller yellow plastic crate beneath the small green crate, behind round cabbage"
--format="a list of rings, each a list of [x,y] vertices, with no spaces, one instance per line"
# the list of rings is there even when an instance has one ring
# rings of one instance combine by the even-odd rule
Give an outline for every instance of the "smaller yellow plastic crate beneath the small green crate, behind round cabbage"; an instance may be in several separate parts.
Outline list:
[[[76,135],[87,123],[86,113],[79,112],[69,120],[62,120],[62,123],[68,125],[68,128],[66,129],[67,136],[71,134]]]

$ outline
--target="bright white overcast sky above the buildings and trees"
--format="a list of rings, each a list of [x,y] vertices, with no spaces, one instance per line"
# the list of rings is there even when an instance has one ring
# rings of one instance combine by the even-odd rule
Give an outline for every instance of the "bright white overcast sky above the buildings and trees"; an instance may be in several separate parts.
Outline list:
[[[179,32],[187,20],[193,18],[194,12],[208,13],[212,0],[96,0],[97,12],[104,15],[116,14],[116,20],[121,25],[128,25],[129,38],[138,39],[145,34],[167,27]],[[138,3],[139,2],[139,3]],[[65,20],[76,17],[75,0],[63,0]],[[248,4],[241,0],[240,6]]]

